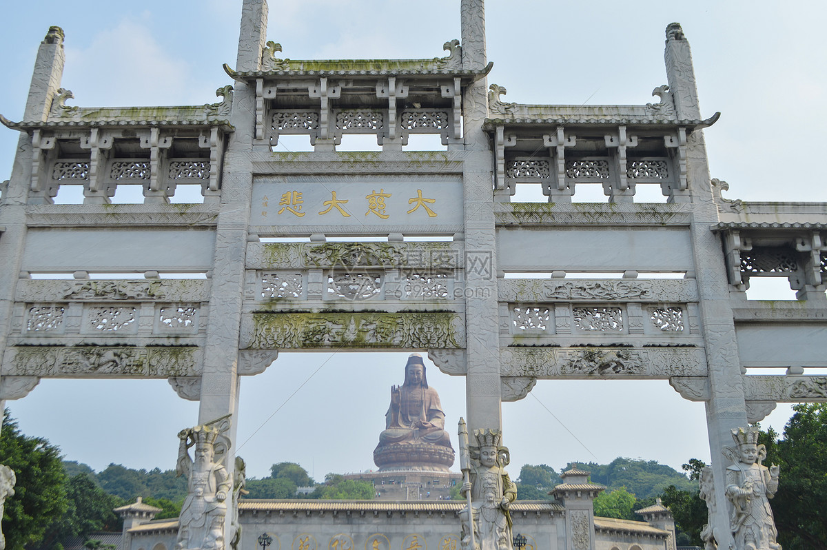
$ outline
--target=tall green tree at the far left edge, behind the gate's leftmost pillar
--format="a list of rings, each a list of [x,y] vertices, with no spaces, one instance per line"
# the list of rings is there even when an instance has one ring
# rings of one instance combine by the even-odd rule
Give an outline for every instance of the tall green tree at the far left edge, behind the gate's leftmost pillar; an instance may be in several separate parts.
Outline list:
[[[21,433],[6,410],[0,458],[17,476],[15,493],[6,500],[2,531],[8,550],[23,550],[27,544],[40,543],[47,526],[60,519],[69,506],[60,449],[44,438]]]

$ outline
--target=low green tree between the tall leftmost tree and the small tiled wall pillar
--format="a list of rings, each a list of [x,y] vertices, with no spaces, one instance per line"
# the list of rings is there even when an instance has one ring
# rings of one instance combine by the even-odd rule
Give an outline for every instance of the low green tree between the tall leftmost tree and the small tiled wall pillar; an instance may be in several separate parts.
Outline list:
[[[45,546],[60,543],[69,537],[87,538],[94,531],[120,531],[122,520],[112,511],[123,504],[117,496],[108,495],[88,474],[78,474],[66,481],[65,513],[50,524],[43,538]]]

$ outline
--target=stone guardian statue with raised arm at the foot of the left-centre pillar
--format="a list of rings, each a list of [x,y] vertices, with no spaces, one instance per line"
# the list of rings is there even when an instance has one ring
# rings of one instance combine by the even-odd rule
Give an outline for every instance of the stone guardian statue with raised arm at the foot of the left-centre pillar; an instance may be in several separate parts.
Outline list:
[[[181,506],[175,550],[221,550],[227,497],[232,503],[232,478],[225,463],[230,440],[228,418],[179,432],[178,476],[187,476],[188,492]],[[189,449],[195,447],[195,457]]]

